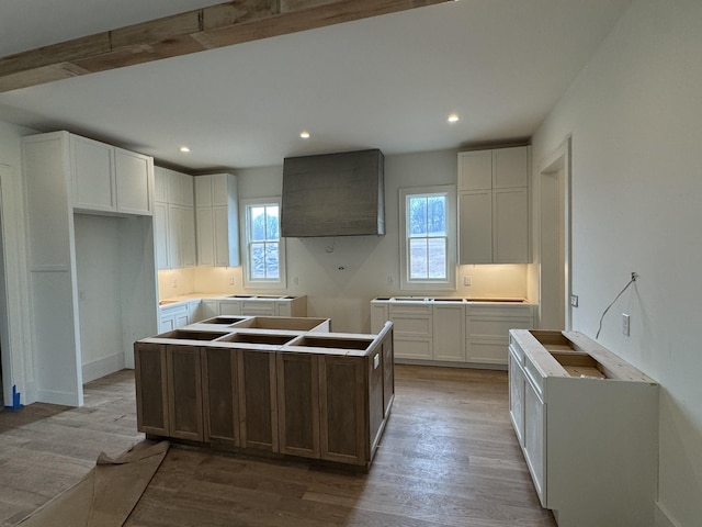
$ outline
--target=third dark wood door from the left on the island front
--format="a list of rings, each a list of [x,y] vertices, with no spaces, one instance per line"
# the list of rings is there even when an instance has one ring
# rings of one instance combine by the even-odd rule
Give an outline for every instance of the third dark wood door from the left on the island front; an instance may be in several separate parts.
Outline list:
[[[238,351],[204,347],[202,383],[204,440],[234,447],[239,440]]]

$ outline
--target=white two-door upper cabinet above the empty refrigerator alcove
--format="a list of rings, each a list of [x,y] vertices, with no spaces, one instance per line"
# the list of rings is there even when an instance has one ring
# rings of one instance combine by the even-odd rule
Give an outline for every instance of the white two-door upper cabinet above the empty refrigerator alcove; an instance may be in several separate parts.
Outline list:
[[[73,209],[152,214],[150,157],[72,134],[69,144]]]

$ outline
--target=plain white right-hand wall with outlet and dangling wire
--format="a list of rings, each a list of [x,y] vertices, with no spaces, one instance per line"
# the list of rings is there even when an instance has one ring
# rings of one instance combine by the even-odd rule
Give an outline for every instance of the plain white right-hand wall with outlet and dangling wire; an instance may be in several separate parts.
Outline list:
[[[702,522],[701,123],[702,2],[639,0],[533,137],[535,166],[573,138],[574,328],[639,274],[599,341],[661,386],[658,526]]]

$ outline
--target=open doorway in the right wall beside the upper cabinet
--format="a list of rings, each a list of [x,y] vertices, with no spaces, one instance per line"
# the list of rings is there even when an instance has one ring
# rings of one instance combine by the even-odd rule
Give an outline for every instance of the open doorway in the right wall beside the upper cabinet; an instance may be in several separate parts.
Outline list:
[[[540,165],[540,327],[570,329],[570,137]]]

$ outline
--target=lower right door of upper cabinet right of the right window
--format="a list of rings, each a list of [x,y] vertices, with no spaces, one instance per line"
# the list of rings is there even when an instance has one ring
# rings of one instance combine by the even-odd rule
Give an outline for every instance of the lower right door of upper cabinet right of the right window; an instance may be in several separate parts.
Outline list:
[[[529,192],[525,188],[492,191],[495,264],[529,264]]]

